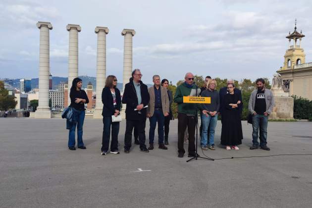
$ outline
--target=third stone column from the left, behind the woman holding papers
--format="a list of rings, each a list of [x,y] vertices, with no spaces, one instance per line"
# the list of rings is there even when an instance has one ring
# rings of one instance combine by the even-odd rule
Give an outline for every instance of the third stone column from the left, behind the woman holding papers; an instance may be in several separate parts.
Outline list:
[[[106,79],[106,34],[109,30],[107,27],[96,27],[95,33],[98,34],[98,49],[97,49],[97,89],[96,89],[96,107],[93,113],[93,118],[102,118],[102,90]]]

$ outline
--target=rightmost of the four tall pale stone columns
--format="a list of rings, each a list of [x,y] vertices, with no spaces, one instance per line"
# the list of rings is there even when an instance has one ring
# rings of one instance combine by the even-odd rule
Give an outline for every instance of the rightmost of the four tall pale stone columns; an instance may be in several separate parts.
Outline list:
[[[123,79],[122,90],[125,89],[125,84],[129,82],[132,72],[132,36],[135,35],[134,30],[123,29],[121,35],[125,37],[123,47]]]

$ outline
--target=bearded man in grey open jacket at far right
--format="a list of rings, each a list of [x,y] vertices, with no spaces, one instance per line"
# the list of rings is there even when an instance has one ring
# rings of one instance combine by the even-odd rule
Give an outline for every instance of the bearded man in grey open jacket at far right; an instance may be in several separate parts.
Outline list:
[[[269,151],[270,148],[266,146],[266,129],[268,116],[273,111],[274,96],[271,90],[265,88],[264,79],[257,79],[256,84],[258,89],[252,92],[248,103],[249,112],[253,114],[253,146],[250,149],[258,149],[258,132],[260,129],[260,148]]]

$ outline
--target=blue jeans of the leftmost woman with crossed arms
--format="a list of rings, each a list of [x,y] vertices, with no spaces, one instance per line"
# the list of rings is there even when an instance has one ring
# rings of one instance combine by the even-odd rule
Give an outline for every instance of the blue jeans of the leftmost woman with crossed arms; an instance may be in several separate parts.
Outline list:
[[[83,126],[83,121],[85,120],[85,114],[86,112],[84,110],[77,110],[78,114],[78,120],[77,123],[74,123],[69,129],[69,135],[68,135],[68,147],[75,147],[75,131],[76,131],[76,126],[77,126],[77,146],[78,147],[83,147],[83,141],[82,141],[82,126]]]

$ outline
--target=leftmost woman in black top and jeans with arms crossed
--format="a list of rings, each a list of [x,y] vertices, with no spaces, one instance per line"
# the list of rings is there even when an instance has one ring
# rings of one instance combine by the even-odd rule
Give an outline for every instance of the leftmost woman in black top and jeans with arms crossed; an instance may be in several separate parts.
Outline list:
[[[86,147],[82,141],[82,127],[85,120],[85,104],[89,103],[88,96],[84,90],[81,90],[82,80],[75,78],[70,88],[70,107],[73,108],[75,114],[72,122],[69,124],[68,149],[76,150],[75,148],[75,131],[77,126],[77,146],[79,149],[85,150]]]

